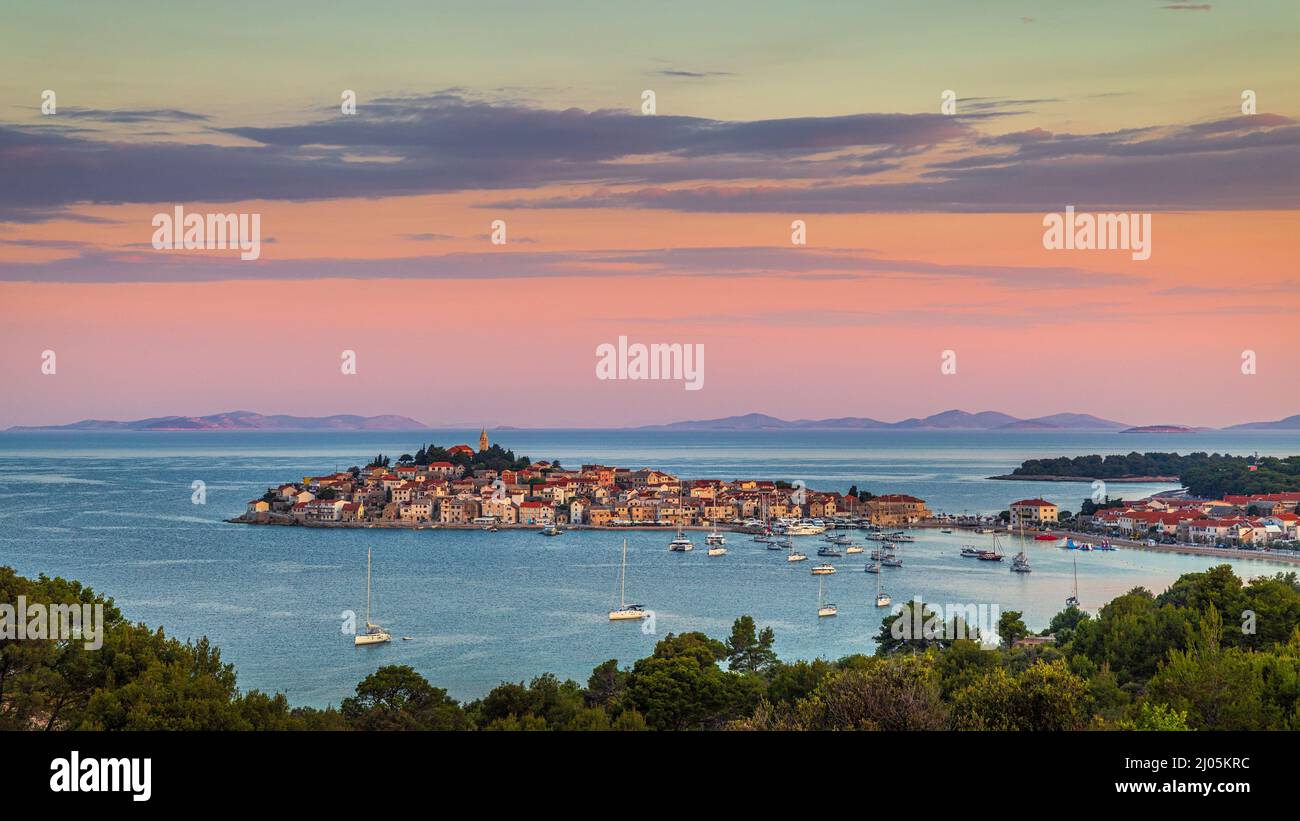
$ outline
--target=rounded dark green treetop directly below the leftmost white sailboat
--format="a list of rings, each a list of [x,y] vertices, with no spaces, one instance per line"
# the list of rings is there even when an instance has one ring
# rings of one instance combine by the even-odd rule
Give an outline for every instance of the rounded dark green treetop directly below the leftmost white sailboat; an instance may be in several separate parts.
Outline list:
[[[469,721],[446,690],[407,665],[381,666],[361,679],[339,712],[355,730],[465,730]]]

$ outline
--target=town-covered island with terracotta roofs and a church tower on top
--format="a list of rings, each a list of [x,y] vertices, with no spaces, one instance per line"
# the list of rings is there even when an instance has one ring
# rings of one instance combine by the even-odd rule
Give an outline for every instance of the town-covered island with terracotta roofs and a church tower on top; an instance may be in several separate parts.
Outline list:
[[[247,503],[247,525],[321,527],[725,527],[845,517],[878,526],[931,517],[923,499],[855,486],[816,491],[802,482],[682,479],[654,468],[533,461],[489,442],[421,446],[396,460],[303,475]]]

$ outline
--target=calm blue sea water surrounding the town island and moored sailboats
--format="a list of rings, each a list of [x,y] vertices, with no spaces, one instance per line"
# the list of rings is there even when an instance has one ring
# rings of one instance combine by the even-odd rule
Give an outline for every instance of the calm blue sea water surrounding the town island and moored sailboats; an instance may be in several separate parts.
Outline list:
[[[776,630],[786,659],[871,652],[884,609],[874,607],[875,577],[862,556],[835,560],[827,598],[836,618],[816,617],[814,551],[789,565],[745,537],[710,559],[703,539],[670,553],[659,533],[321,531],[226,525],[268,486],[394,457],[421,440],[473,442],[477,431],[424,434],[272,433],[0,433],[0,564],[25,575],[84,581],[112,595],[134,620],[181,638],[208,635],[233,661],[243,687],[286,691],[298,704],[337,704],[381,664],[410,664],[463,699],[500,681],[550,670],[585,681],[606,659],[629,663],[664,633],[703,630],[724,638],[742,613]],[[637,433],[500,431],[517,453],[567,466],[603,462],[656,466],[688,477],[803,479],[809,487],[907,492],[945,512],[996,512],[1013,499],[1044,496],[1070,509],[1089,485],[993,482],[1041,456],[1128,451],[1300,453],[1296,433],[1214,433],[1188,436],[1095,433]],[[207,504],[191,483],[207,485]],[[1113,486],[1136,498],[1170,486]],[[1210,564],[1190,556],[1121,551],[1082,553],[1030,543],[1030,575],[1006,564],[962,560],[972,537],[915,531],[904,568],[887,569],[885,588],[940,604],[1019,609],[1032,629],[1046,625],[1070,595],[1078,560],[1079,595],[1097,607],[1135,586],[1162,590]],[[628,538],[628,598],[655,611],[654,635],[637,622],[610,624],[619,556]],[[365,551],[374,549],[377,617],[410,642],[354,648],[341,613],[364,618]],[[1014,552],[1015,540],[1008,547]],[[1286,568],[1232,561],[1243,575]]]

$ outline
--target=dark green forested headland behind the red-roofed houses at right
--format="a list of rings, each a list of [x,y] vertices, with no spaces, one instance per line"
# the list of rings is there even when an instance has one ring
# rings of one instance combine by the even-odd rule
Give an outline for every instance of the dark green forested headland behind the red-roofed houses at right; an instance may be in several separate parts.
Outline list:
[[[1079,479],[1134,479],[1178,477],[1204,499],[1225,494],[1277,494],[1300,491],[1300,456],[1278,459],[1228,453],[1138,453],[1031,459],[1013,477],[1074,477]]]

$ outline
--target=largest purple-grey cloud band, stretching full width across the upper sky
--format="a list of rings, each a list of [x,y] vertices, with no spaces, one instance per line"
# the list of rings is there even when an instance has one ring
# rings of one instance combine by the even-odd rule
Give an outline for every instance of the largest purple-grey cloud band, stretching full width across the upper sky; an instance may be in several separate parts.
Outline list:
[[[296,125],[212,130],[237,144],[0,126],[0,221],[75,218],[70,209],[86,204],[502,190],[516,194],[491,207],[966,213],[1300,205],[1300,126],[1278,114],[1100,134],[978,129],[1017,107],[1053,101],[968,97],[974,110],[953,117],[722,121],[547,109],[447,91],[381,97],[355,117],[317,112]],[[131,114],[160,112],[191,116]],[[584,192],[558,192],[573,186]]]

